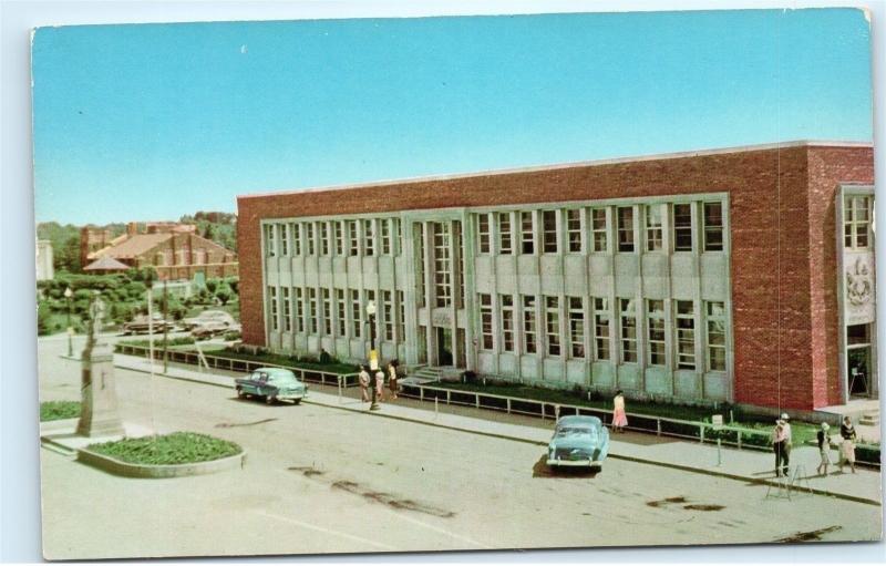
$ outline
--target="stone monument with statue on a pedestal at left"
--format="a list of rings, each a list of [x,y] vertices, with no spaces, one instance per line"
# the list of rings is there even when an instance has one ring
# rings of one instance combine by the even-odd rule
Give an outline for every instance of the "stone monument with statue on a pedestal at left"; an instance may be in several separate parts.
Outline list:
[[[117,414],[117,393],[114,384],[114,351],[101,338],[105,306],[96,291],[90,305],[86,347],[81,358],[82,384],[80,421],[76,433],[81,436],[124,436],[123,423]]]

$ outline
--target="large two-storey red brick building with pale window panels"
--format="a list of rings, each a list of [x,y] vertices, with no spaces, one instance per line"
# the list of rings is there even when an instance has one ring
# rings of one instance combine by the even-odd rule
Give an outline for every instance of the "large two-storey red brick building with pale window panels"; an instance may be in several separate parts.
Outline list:
[[[873,147],[796,142],[238,198],[244,341],[633,398],[878,394]]]

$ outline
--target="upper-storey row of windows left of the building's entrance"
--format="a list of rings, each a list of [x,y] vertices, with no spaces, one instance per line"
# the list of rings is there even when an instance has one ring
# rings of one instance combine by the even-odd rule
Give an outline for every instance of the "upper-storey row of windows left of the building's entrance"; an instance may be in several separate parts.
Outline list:
[[[399,218],[364,218],[266,224],[264,237],[267,257],[390,256],[402,253],[405,234]]]

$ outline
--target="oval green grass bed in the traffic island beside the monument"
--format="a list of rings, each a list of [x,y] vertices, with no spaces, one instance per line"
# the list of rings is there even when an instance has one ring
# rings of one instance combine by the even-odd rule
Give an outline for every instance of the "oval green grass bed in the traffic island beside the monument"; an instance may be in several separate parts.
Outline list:
[[[243,452],[234,442],[195,432],[123,439],[91,444],[90,450],[132,464],[173,465],[208,462]]]

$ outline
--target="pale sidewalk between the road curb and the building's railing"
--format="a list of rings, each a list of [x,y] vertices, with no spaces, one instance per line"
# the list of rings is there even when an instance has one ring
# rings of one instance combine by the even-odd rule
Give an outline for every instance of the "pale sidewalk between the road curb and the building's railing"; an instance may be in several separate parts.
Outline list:
[[[114,356],[114,364],[134,371],[150,372],[148,360],[132,356]],[[213,373],[199,372],[169,364],[167,373],[162,373],[163,364],[155,363],[154,371],[157,377],[181,379],[206,383],[224,388],[234,387],[231,373],[223,370],[213,370]],[[349,391],[348,393],[353,393]],[[339,398],[337,394],[323,393],[311,387],[310,395],[306,403],[313,403],[346,411],[369,413],[369,404],[349,395]],[[441,411],[434,412],[431,403],[405,407],[398,402],[381,404],[380,411],[371,414],[388,419],[398,419],[431,426],[471,432],[488,436],[528,442],[547,446],[550,440],[553,421],[534,420],[537,425],[515,424],[498,420],[480,419],[464,414],[454,414],[453,408],[440,405]],[[703,473],[729,477],[749,483],[777,485],[774,478],[774,455],[771,452],[752,450],[735,450],[723,447],[720,451],[720,465],[718,465],[718,449],[715,445],[689,442],[679,439],[655,436],[642,433],[611,434],[609,441],[609,457],[629,460],[651,465],[684,470],[687,472]],[[832,451],[832,461],[836,462],[837,452]],[[796,466],[803,466],[805,473],[801,487],[806,487],[806,482],[814,493],[828,495],[872,505],[882,504],[882,485],[879,470],[857,467],[855,474],[839,474],[838,466],[831,466],[831,474],[826,477],[815,476],[818,466],[818,449],[815,446],[796,446],[791,452],[792,474]]]

